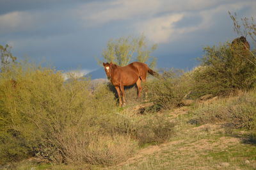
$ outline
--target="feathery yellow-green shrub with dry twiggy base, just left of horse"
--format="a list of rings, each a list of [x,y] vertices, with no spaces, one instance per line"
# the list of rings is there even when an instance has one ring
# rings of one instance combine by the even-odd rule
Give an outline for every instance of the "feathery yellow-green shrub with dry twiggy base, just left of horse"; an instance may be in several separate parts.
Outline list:
[[[58,163],[87,162],[110,165],[131,155],[135,148],[131,140],[124,140],[124,137],[108,137],[111,131],[109,128],[116,122],[113,114],[116,108],[113,93],[104,85],[95,89],[93,94],[89,93],[86,90],[86,82],[76,79],[65,84],[65,87],[66,100],[69,100],[61,101],[60,104],[67,105],[68,108],[64,107],[56,113],[58,119],[47,121],[51,123],[47,126],[52,129],[47,132],[50,135],[45,139],[44,145],[38,148],[38,157]],[[104,142],[108,144],[102,145]],[[115,147],[119,147],[118,144],[127,148],[118,153],[115,151]],[[97,147],[90,149],[96,145]]]

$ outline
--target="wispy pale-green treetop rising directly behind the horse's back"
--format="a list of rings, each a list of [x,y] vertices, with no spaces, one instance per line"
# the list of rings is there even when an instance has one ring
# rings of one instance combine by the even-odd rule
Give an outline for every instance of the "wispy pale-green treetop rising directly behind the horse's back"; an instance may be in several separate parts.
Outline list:
[[[102,52],[102,58],[104,61],[112,61],[120,66],[128,65],[131,61],[140,61],[153,67],[156,65],[156,58],[150,55],[156,48],[156,44],[148,47],[144,35],[121,37],[116,40],[109,40],[107,48]],[[102,61],[99,63],[102,65]]]

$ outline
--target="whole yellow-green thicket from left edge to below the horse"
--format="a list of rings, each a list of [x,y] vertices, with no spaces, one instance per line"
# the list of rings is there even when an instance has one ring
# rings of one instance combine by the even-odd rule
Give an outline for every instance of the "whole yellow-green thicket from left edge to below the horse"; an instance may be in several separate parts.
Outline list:
[[[64,81],[61,72],[29,63],[0,73],[0,165],[34,156],[109,166],[131,156],[145,137],[163,143],[172,136],[167,118],[124,119],[108,84],[92,91],[90,80],[70,76]]]

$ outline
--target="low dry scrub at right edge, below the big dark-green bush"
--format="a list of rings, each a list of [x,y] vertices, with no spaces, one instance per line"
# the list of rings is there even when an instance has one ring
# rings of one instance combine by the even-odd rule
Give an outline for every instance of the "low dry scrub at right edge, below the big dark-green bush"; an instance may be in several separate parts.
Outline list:
[[[256,92],[200,104],[192,113],[199,124],[227,123],[234,128],[256,129]]]

